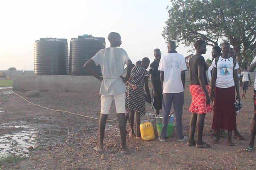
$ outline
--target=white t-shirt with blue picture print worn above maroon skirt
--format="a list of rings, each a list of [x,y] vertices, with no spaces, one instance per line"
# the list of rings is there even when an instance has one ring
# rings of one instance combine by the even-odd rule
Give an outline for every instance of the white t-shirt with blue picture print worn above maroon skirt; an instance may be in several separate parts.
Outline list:
[[[216,87],[219,88],[229,88],[234,86],[234,78],[233,78],[233,67],[234,62],[233,58],[222,58],[220,57],[217,62],[217,67],[215,64],[215,59],[211,63],[211,65],[217,68],[217,79],[216,79]],[[236,66],[234,69],[239,68],[239,65],[236,62]]]

